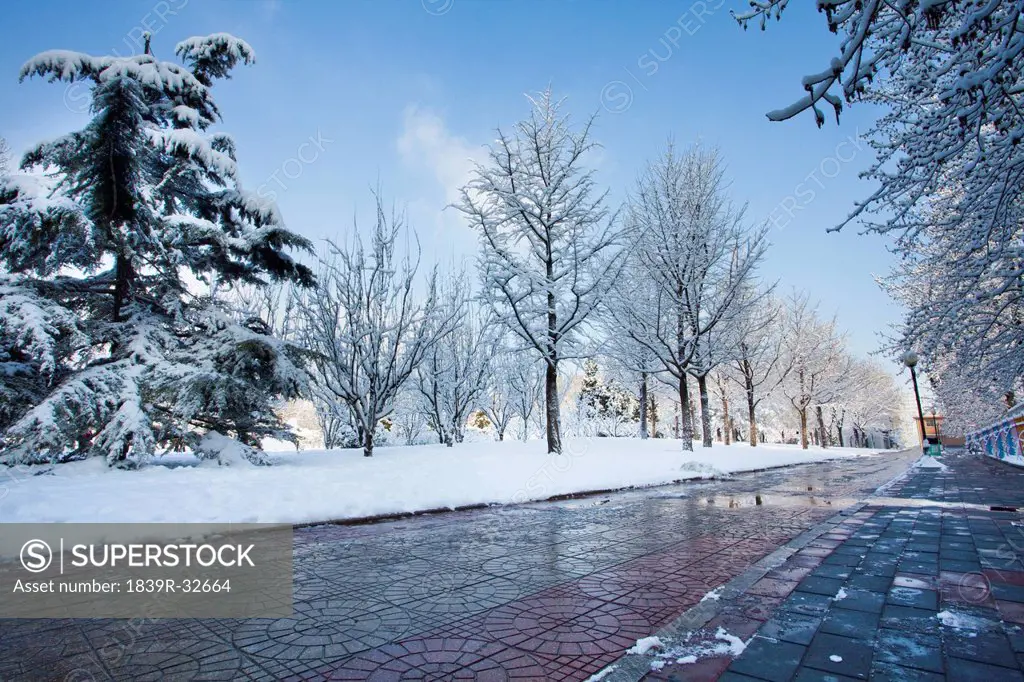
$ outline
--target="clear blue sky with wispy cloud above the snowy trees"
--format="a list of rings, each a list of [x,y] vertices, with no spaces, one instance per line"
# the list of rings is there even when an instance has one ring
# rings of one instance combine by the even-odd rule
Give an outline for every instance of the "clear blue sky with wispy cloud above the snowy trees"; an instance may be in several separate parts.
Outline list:
[[[0,135],[15,153],[81,127],[84,89],[18,84],[26,59],[51,48],[96,54],[174,44],[218,31],[246,39],[257,63],[215,96],[250,189],[273,193],[290,227],[338,238],[370,217],[370,189],[407,210],[427,261],[472,257],[476,239],[442,208],[497,126],[528,113],[524,93],[549,84],[579,120],[597,113],[598,181],[620,201],[645,160],[701,140],[729,164],[754,221],[772,223],[763,273],[806,289],[866,353],[900,310],[873,276],[892,257],[856,226],[826,233],[872,185],[857,173],[877,111],[841,125],[809,116],[769,123],[801,94],[800,79],[836,52],[812,3],[762,33],[729,10],[742,0],[144,0],[18,2],[0,43]]]

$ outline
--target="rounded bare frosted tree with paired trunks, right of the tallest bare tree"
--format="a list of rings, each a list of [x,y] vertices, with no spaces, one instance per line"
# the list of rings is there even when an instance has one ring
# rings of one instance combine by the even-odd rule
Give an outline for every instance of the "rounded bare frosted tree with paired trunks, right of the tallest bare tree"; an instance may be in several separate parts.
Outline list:
[[[708,374],[722,357],[713,335],[754,303],[748,295],[767,248],[765,227],[751,228],[745,207],[728,197],[721,156],[694,145],[649,164],[630,200],[630,278],[650,282],[618,297],[613,314],[624,333],[653,353],[676,381],[682,441],[692,450],[686,377],[697,380],[703,444],[712,445]]]

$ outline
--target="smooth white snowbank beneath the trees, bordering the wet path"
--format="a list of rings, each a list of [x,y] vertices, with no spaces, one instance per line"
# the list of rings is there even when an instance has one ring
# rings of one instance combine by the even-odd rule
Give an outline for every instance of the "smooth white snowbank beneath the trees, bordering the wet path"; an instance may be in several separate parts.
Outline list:
[[[380,447],[373,458],[357,450],[292,451],[274,454],[270,467],[196,466],[189,456],[174,456],[138,471],[91,460],[46,475],[8,470],[0,521],[300,523],[526,502],[877,452],[695,444],[684,454],[678,440],[568,439],[560,456],[547,455],[539,440]]]

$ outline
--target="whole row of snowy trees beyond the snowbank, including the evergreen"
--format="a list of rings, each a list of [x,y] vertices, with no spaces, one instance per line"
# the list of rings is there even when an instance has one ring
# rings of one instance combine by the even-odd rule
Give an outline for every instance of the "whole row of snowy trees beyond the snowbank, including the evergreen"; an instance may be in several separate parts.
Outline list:
[[[475,271],[425,268],[379,190],[371,225],[314,254],[210,130],[216,82],[252,48],[214,34],[175,53],[53,51],[22,70],[90,83],[92,115],[0,173],[5,463],[132,467],[185,449],[262,463],[263,438],[294,439],[278,408],[300,396],[326,446],[368,457],[384,420],[454,445],[480,411],[499,438],[541,424],[557,453],[567,376],[591,357],[629,377],[639,424],[651,386],[670,387],[684,450],[697,422],[712,444],[714,386],[741,388],[752,445],[773,397],[807,446],[828,442],[826,413],[878,394],[834,319],[758,275],[767,229],[716,150],[670,143],[612,206],[589,165],[593,118],[574,125],[545,91],[456,204],[480,239]]]

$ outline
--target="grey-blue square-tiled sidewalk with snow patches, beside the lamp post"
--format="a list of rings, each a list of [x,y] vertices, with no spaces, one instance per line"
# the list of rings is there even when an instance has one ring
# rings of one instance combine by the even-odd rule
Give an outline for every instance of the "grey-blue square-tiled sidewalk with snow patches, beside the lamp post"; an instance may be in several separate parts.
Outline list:
[[[943,462],[766,557],[606,679],[1024,682],[1024,470]]]

